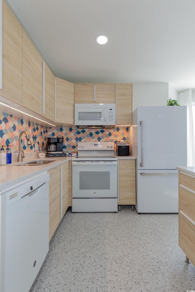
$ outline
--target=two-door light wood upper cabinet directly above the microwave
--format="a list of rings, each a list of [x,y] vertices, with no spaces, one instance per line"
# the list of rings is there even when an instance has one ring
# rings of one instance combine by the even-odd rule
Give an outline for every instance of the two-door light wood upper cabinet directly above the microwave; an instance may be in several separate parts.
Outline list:
[[[115,104],[115,84],[77,83],[74,85],[75,104]]]

